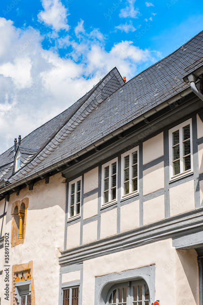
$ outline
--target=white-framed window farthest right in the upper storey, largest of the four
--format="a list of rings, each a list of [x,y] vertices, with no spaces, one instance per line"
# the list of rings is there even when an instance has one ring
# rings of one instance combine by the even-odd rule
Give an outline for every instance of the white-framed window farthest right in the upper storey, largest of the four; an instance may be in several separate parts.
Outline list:
[[[192,119],[169,130],[170,180],[193,172]]]

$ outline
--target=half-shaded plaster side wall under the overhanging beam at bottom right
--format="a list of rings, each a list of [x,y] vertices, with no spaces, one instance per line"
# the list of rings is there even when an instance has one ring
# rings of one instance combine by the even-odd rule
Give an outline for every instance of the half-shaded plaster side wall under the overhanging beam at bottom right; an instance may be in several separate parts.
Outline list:
[[[199,304],[198,262],[194,249],[176,251],[175,281],[176,304]]]

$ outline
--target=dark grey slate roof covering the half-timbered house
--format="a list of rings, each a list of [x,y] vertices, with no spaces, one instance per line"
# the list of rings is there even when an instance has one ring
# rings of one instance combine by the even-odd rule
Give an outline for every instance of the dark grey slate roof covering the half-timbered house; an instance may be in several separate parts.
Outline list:
[[[63,115],[60,114],[47,122],[47,127],[46,124],[41,126],[28,135],[28,138],[25,137],[26,140],[22,140],[23,146],[36,143],[35,148],[39,147],[39,150],[27,165],[12,176],[10,182],[19,181],[79,152],[126,122],[183,91],[190,86],[183,81],[183,76],[201,66],[202,59],[203,31],[166,58],[132,78],[124,86],[121,86],[123,81],[119,79],[119,73],[114,68],[112,71],[118,74],[116,78],[110,71],[104,78],[105,86],[101,81],[95,86],[96,90],[94,87],[86,98],[83,97],[72,105],[71,110],[65,110]],[[41,135],[44,137],[44,134],[49,141],[47,143],[42,141],[43,146],[40,138]],[[0,166],[11,160],[10,150],[0,156]],[[7,177],[9,174],[10,172],[6,174]]]

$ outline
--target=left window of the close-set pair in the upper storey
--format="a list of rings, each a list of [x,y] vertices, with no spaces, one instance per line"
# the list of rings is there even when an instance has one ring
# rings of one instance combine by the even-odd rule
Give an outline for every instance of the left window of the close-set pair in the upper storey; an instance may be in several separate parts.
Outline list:
[[[118,158],[102,165],[102,206],[117,200]]]

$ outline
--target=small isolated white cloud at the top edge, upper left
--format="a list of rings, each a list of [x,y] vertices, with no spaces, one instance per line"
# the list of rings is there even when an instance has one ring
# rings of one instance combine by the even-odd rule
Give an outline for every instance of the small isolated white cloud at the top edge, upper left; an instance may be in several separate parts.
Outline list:
[[[67,24],[68,10],[62,5],[60,0],[41,0],[44,11],[41,11],[38,16],[38,21],[44,22],[52,27],[53,30],[69,30]]]

